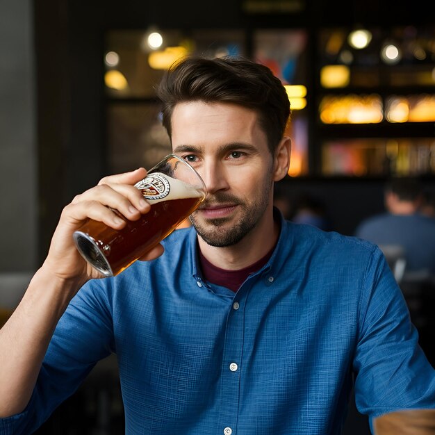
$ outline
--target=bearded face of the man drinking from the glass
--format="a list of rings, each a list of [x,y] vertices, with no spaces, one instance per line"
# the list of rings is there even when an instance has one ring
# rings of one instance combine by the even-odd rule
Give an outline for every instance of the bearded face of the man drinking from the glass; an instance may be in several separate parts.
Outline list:
[[[274,159],[254,110],[202,101],[177,104],[172,149],[206,183],[207,198],[191,220],[208,245],[235,245],[261,231],[272,206]]]

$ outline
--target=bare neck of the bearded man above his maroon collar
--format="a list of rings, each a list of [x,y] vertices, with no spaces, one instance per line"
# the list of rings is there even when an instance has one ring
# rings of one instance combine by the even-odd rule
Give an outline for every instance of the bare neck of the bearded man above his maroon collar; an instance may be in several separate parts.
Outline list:
[[[202,255],[213,265],[224,270],[247,268],[268,254],[277,243],[279,223],[274,222],[272,208],[263,220],[236,245],[215,247],[198,237]]]

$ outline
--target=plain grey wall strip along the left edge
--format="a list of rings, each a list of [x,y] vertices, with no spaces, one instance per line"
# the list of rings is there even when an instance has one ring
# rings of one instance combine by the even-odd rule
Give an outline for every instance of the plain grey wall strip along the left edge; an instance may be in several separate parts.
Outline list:
[[[6,274],[36,262],[35,86],[30,1],[0,2],[0,306],[13,295]],[[10,276],[10,275],[9,275]],[[21,292],[20,292],[21,295]],[[15,301],[15,296],[12,297]]]

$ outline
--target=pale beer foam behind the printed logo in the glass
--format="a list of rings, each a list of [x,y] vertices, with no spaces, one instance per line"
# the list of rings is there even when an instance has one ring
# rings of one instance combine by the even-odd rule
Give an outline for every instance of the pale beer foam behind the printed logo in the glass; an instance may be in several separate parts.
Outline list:
[[[167,181],[167,182],[165,182]],[[200,198],[204,196],[201,190],[185,181],[174,179],[161,172],[153,172],[135,185],[150,204],[172,199]]]

